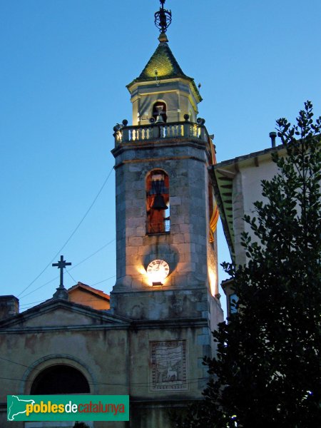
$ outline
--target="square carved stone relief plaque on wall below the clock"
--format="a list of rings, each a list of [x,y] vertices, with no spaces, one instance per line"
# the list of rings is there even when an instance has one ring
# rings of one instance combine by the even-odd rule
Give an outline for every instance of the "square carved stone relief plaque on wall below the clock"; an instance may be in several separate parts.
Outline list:
[[[188,389],[186,340],[150,342],[151,391]]]

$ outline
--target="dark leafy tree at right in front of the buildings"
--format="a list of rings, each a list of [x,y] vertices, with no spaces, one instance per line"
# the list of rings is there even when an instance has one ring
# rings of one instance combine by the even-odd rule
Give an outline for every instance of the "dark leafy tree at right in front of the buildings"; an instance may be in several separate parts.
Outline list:
[[[248,263],[223,264],[233,277],[237,312],[214,332],[218,354],[204,399],[178,427],[321,426],[321,116],[307,101],[295,126],[277,121],[287,156],[262,181],[256,236],[243,234]]]

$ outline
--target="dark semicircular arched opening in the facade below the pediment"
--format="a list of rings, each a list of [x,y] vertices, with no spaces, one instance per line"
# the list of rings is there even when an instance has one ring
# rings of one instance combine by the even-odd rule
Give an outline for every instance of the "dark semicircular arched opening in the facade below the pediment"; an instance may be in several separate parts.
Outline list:
[[[68,365],[54,365],[38,374],[31,386],[30,394],[86,394],[90,391],[83,374]]]

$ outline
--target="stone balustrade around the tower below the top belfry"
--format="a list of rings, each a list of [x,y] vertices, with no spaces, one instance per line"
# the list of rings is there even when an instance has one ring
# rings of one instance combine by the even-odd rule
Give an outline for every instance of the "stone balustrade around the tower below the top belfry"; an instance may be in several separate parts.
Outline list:
[[[121,143],[132,143],[135,141],[153,141],[166,138],[192,138],[193,140],[208,143],[208,131],[201,123],[189,121],[172,123],[151,123],[150,125],[127,126],[124,120],[121,125],[113,128],[115,137],[115,146]]]

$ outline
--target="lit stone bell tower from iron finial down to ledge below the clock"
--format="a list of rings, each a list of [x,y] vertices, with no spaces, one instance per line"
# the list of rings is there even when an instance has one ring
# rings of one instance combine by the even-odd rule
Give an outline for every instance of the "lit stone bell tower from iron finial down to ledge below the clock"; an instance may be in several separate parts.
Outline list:
[[[133,320],[222,319],[216,221],[208,166],[215,150],[193,78],[183,73],[166,30],[171,13],[155,14],[159,44],[128,84],[133,124],[114,127],[116,315]]]

